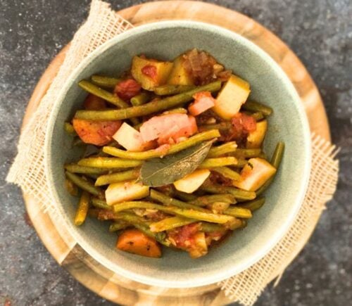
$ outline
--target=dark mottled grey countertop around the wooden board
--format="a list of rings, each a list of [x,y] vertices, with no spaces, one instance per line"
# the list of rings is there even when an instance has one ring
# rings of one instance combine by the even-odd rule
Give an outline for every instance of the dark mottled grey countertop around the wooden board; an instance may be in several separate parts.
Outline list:
[[[110,1],[115,9],[144,1]],[[352,5],[349,0],[215,0],[287,42],[318,84],[341,171],[337,193],[306,248],[257,305],[348,305],[352,300]],[[5,177],[28,99],[50,60],[87,17],[88,0],[1,0],[0,305],[112,305],[58,266]]]

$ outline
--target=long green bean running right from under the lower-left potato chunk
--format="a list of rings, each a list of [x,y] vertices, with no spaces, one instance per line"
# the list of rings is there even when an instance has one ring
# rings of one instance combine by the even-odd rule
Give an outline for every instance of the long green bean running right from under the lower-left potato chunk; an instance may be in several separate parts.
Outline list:
[[[144,208],[151,210],[161,210],[170,215],[178,215],[181,217],[187,217],[189,219],[197,219],[206,222],[225,224],[233,220],[233,217],[229,215],[215,215],[209,212],[201,212],[198,210],[187,210],[182,208],[177,208],[175,206],[164,206],[158,205],[151,202],[144,201],[132,201],[124,202],[114,205],[113,209],[115,212],[120,212],[122,210],[130,210],[132,208]]]

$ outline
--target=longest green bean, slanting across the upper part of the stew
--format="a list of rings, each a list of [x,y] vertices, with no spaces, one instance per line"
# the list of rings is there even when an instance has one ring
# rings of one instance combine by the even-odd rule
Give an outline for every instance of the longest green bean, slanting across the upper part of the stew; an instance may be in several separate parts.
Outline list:
[[[191,101],[192,96],[199,91],[218,91],[221,87],[221,82],[216,81],[206,84],[196,89],[186,91],[175,96],[168,96],[158,101],[151,101],[142,106],[132,106],[130,108],[120,110],[77,110],[75,117],[85,120],[123,120],[132,117],[140,117],[150,115],[168,108],[173,108],[181,104]]]

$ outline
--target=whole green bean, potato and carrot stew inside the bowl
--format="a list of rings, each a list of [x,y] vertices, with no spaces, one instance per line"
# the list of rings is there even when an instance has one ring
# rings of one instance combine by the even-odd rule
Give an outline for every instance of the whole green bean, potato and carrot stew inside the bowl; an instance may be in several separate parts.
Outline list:
[[[263,152],[272,109],[209,53],[134,56],[122,75],[78,85],[88,96],[63,127],[87,146],[64,165],[68,193],[80,196],[77,226],[89,215],[112,222],[119,250],[196,258],[265,203],[284,152],[281,142],[271,160]]]

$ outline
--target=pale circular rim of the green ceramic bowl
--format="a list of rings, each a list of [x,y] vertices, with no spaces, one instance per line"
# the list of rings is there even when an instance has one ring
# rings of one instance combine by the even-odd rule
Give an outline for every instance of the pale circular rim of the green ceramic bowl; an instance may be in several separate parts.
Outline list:
[[[166,20],[166,21],[158,21],[155,23],[147,23],[144,25],[139,25],[137,27],[134,27],[130,30],[127,30],[126,32],[123,32],[121,34],[118,34],[116,37],[113,37],[112,39],[109,39],[107,42],[101,44],[98,48],[96,48],[92,53],[89,53],[79,65],[70,73],[68,79],[65,80],[65,84],[61,88],[61,91],[59,91],[58,96],[56,98],[56,101],[54,102],[53,108],[51,110],[51,113],[49,115],[49,120],[48,120],[48,125],[46,127],[46,139],[44,142],[44,165],[45,165],[45,175],[46,179],[48,181],[48,186],[49,186],[49,192],[51,193],[51,196],[56,202],[60,202],[60,198],[58,196],[58,192],[56,190],[56,184],[54,182],[54,176],[52,173],[52,169],[50,167],[51,165],[51,142],[52,142],[52,136],[54,132],[54,125],[56,122],[56,117],[58,115],[58,112],[61,108],[61,103],[64,100],[68,90],[70,87],[73,86],[72,80],[77,78],[78,75],[80,75],[80,72],[86,68],[89,63],[94,60],[99,54],[101,54],[103,51],[106,51],[106,49],[111,48],[111,46],[114,46],[115,44],[118,44],[119,42],[127,39],[127,37],[131,37],[134,34],[145,34],[149,32],[150,30],[156,30],[156,29],[165,29],[165,28],[193,28],[193,29],[199,29],[199,30],[206,30],[207,32],[212,32],[214,34],[221,34],[222,36],[226,36],[229,39],[235,40],[239,44],[243,44],[246,48],[251,49],[255,53],[260,56],[260,58],[263,58],[265,62],[267,62],[273,70],[275,70],[275,74],[279,77],[279,79],[282,82],[282,85],[287,88],[289,93],[292,96],[292,100],[296,104],[296,107],[298,108],[298,115],[300,116],[300,120],[303,124],[303,144],[304,144],[304,160],[302,160],[303,165],[305,165],[303,169],[303,177],[302,177],[302,182],[299,191],[297,192],[297,196],[295,198],[294,203],[292,203],[293,208],[291,210],[291,214],[287,216],[285,219],[285,222],[282,223],[282,226],[279,228],[279,230],[276,231],[275,235],[271,236],[270,238],[266,239],[265,243],[263,243],[263,246],[261,248],[258,248],[258,251],[249,257],[249,260],[247,260],[246,264],[242,264],[239,267],[227,267],[225,271],[223,271],[221,274],[217,274],[216,276],[213,274],[210,274],[210,276],[204,276],[201,279],[189,279],[188,281],[168,281],[168,280],[163,280],[163,279],[158,279],[153,276],[145,276],[142,274],[137,274],[134,272],[131,272],[129,269],[123,268],[123,264],[117,264],[116,267],[108,267],[106,264],[106,259],[103,255],[101,255],[99,252],[97,252],[94,248],[91,248],[90,246],[87,245],[87,243],[80,237],[80,234],[77,233],[77,230],[75,229],[75,225],[73,223],[67,222],[65,217],[61,215],[60,213],[57,213],[58,219],[61,219],[63,224],[66,226],[66,230],[70,233],[70,235],[75,238],[75,241],[90,255],[99,262],[99,264],[102,264],[103,267],[106,267],[108,269],[111,269],[111,271],[115,272],[116,274],[124,275],[125,277],[132,279],[133,281],[137,281],[139,283],[145,283],[150,286],[160,286],[163,288],[194,288],[198,286],[206,286],[211,283],[217,283],[219,281],[223,281],[231,276],[237,275],[240,272],[243,272],[245,269],[248,269],[251,267],[253,264],[258,262],[260,259],[262,259],[265,255],[267,255],[272,248],[275,247],[275,245],[284,237],[284,234],[287,233],[289,230],[289,227],[291,227],[291,224],[294,222],[294,219],[296,218],[296,215],[298,214],[298,210],[301,208],[301,205],[303,203],[304,196],[306,195],[306,191],[308,189],[308,182],[309,182],[309,177],[310,177],[310,167],[311,167],[311,148],[310,148],[310,128],[308,125],[308,117],[306,116],[306,112],[303,108],[303,103],[301,101],[301,98],[298,96],[298,93],[296,89],[294,88],[294,85],[291,83],[289,77],[287,77],[286,73],[282,68],[273,60],[268,53],[263,51],[263,49],[260,49],[259,46],[254,44],[253,42],[249,41],[245,37],[242,37],[240,34],[237,34],[236,32],[232,32],[231,30],[227,30],[224,27],[220,27],[218,25],[210,25],[208,23],[202,23],[199,21],[192,21],[192,20]],[[60,211],[60,208],[58,208]],[[64,212],[63,212],[64,213]]]

